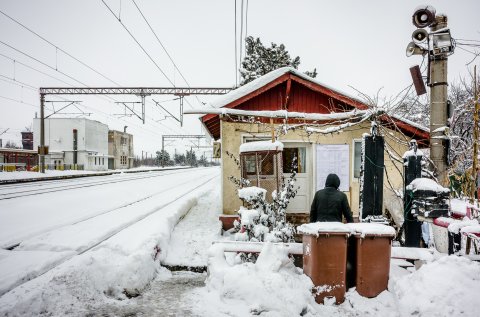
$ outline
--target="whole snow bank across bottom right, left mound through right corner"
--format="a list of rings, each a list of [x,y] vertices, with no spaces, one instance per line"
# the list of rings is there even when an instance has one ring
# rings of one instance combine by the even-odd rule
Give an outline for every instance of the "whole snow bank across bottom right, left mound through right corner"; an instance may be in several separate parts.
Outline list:
[[[456,256],[413,273],[392,266],[389,290],[365,298],[351,288],[338,306],[314,301],[310,278],[293,266],[281,245],[265,243],[257,263],[236,265],[214,245],[208,268],[206,287],[190,295],[199,316],[477,316],[480,264]]]

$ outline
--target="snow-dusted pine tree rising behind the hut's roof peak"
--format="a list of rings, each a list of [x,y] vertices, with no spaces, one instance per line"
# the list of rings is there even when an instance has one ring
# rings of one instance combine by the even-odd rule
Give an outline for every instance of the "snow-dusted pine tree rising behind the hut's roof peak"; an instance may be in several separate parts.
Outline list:
[[[242,61],[240,74],[242,76],[241,85],[263,76],[275,69],[290,66],[298,69],[300,57],[291,58],[285,45],[271,43],[271,47],[265,47],[260,38],[249,36],[245,39],[246,56]],[[308,76],[315,78],[317,69],[312,72],[306,72]]]

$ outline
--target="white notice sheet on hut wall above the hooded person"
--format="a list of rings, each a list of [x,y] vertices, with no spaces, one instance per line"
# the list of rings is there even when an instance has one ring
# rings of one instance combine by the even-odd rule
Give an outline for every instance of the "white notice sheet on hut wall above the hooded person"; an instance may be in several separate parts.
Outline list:
[[[316,148],[316,190],[325,188],[327,175],[335,173],[340,178],[340,190],[350,187],[350,155],[348,144],[317,144]]]

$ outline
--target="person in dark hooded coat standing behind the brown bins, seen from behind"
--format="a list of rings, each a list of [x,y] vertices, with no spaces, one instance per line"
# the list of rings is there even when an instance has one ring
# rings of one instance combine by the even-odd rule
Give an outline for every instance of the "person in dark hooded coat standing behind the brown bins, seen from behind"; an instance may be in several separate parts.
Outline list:
[[[337,174],[328,174],[325,188],[315,193],[310,208],[310,222],[342,222],[342,215],[347,222],[353,222],[347,195],[338,190],[339,186],[340,178]]]

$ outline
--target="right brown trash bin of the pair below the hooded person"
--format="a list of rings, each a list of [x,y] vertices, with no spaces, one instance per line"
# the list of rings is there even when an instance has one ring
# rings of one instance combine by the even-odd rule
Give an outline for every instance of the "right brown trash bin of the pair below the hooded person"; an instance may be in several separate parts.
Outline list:
[[[353,274],[357,292],[364,297],[376,297],[388,287],[393,235],[355,234]]]

